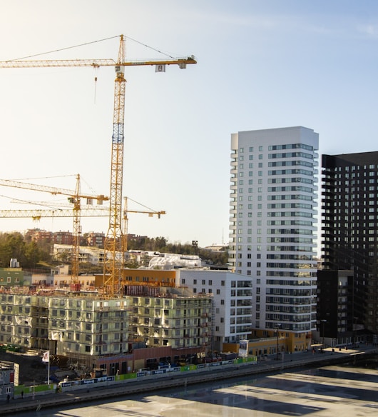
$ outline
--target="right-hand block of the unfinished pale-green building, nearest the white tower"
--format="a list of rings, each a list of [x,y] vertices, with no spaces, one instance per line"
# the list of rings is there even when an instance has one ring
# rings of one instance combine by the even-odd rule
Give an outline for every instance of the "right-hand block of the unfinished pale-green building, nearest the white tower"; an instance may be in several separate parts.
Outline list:
[[[145,346],[200,348],[212,337],[213,296],[184,288],[126,286],[131,312],[130,338]]]

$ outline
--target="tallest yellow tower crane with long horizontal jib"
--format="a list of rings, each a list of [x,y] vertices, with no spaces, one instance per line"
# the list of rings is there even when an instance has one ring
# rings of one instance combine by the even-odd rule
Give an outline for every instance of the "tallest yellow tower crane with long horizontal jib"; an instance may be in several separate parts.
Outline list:
[[[185,58],[126,60],[125,40],[120,36],[118,59],[63,59],[42,61],[0,61],[0,68],[34,68],[62,66],[114,66],[116,80],[114,89],[113,136],[111,148],[111,191],[109,204],[109,226],[105,241],[105,261],[103,269],[103,287],[108,296],[119,296],[123,270],[123,233],[122,233],[122,186],[123,186],[123,140],[125,119],[125,67],[156,66],[156,72],[164,72],[165,65],[177,64],[185,69],[187,64],[197,64],[194,56]]]

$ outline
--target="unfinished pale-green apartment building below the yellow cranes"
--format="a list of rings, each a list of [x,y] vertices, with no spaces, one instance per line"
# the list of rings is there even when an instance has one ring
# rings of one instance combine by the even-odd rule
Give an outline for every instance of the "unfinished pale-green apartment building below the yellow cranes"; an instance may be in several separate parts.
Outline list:
[[[151,358],[173,362],[210,348],[213,297],[188,288],[130,285],[117,298],[72,287],[3,288],[0,299],[0,343],[66,356],[86,372],[127,373]]]

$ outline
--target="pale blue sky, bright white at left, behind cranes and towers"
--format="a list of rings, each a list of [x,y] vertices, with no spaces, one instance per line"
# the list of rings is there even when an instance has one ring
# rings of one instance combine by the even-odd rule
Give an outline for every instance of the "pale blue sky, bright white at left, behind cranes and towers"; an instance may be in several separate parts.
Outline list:
[[[320,155],[378,150],[375,0],[0,6],[0,61],[116,59],[121,34],[126,59],[198,60],[163,74],[126,68],[123,196],[130,210],[166,212],[160,219],[130,213],[128,233],[227,244],[230,135],[237,131],[305,126],[320,135]],[[106,67],[0,69],[0,179],[75,189],[80,174],[82,194],[108,196],[114,78]],[[1,186],[2,210],[44,208],[41,202],[66,199]],[[81,225],[83,233],[106,233],[108,218]],[[0,231],[72,227],[71,218],[0,218]]]

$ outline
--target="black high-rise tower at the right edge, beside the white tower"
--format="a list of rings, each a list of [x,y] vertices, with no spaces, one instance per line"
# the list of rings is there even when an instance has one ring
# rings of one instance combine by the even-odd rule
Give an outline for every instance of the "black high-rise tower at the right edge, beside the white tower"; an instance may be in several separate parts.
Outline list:
[[[353,271],[352,321],[378,334],[378,152],[322,155],[322,258]]]

